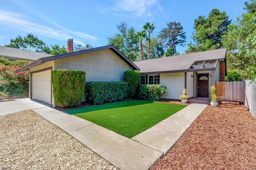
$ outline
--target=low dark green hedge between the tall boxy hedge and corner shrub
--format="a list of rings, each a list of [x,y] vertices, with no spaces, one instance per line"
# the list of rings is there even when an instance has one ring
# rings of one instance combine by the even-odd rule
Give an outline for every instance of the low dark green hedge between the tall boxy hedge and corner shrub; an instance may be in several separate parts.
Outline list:
[[[126,82],[86,82],[86,92],[89,101],[94,105],[111,103],[123,100],[128,95],[128,83]]]

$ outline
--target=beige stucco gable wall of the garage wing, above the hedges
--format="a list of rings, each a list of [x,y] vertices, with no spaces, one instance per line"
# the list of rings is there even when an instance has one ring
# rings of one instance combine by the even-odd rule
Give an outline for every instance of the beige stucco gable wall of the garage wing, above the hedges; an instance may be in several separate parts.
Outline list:
[[[132,70],[110,49],[55,60],[55,69],[86,72],[86,81],[123,81],[124,71]]]

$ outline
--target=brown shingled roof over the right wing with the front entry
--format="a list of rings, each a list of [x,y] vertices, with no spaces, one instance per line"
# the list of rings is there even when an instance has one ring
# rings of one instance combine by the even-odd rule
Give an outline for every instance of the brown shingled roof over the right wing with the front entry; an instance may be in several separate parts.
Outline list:
[[[156,58],[134,62],[142,74],[177,73],[190,71],[203,71],[190,69],[196,61],[217,60],[226,62],[226,48],[182,54],[170,57]],[[216,67],[216,66],[215,66]],[[215,68],[214,68],[215,69]],[[208,68],[208,70],[210,70]]]

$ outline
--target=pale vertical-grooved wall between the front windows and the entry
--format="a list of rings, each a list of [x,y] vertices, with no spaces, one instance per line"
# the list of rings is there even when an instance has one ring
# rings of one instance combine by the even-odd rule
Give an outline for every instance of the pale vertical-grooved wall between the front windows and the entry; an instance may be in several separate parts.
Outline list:
[[[167,87],[168,99],[180,99],[182,90],[185,87],[185,73],[164,73],[160,74],[160,85]]]

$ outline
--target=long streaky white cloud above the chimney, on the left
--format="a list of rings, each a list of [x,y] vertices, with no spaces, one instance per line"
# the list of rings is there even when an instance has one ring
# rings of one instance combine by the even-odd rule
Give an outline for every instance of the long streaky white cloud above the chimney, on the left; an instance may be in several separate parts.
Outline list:
[[[53,26],[57,27],[58,29],[51,28],[50,26],[44,26],[42,24],[38,24],[35,22],[31,22],[32,18],[29,16],[25,16],[23,14],[8,12],[8,11],[1,11],[0,10],[0,25],[10,29],[19,29],[23,30],[27,33],[32,33],[44,37],[54,38],[57,40],[68,40],[68,38],[73,37],[74,42],[81,43],[79,39],[85,39],[88,41],[96,41],[98,38],[95,36],[91,36],[88,34],[84,34],[82,32],[75,32],[72,30],[68,30],[56,22],[49,20],[44,16],[40,16]],[[75,37],[76,36],[76,37]]]

